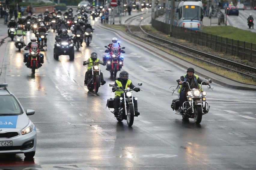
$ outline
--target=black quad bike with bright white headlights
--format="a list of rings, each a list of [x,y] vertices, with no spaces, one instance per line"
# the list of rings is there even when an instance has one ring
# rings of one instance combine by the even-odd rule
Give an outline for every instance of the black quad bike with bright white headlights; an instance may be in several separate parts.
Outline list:
[[[70,36],[72,38],[73,36]],[[74,43],[70,40],[62,41],[59,36],[55,36],[55,45],[53,48],[53,58],[59,60],[59,55],[69,55],[70,60],[75,58]]]

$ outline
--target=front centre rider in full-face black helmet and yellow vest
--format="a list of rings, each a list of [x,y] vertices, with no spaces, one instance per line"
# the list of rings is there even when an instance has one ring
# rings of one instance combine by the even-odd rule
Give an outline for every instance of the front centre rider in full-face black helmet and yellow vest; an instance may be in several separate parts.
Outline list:
[[[130,87],[130,89],[133,89],[136,86],[134,86],[132,81],[129,80],[128,78],[129,78],[128,72],[121,71],[119,74],[119,78],[117,78],[114,85],[123,87],[123,89],[127,89],[127,87]],[[114,115],[115,115],[115,117],[118,117],[120,97],[124,97],[123,90],[116,89],[115,87],[112,87],[112,90],[113,90],[113,92],[115,92],[115,98],[114,98],[114,103],[113,103],[114,104]],[[140,89],[136,87],[134,91],[139,92]],[[139,116],[140,113],[138,112],[138,103],[137,103],[137,100],[134,99],[134,97],[133,97],[133,103],[134,103],[134,115]]]

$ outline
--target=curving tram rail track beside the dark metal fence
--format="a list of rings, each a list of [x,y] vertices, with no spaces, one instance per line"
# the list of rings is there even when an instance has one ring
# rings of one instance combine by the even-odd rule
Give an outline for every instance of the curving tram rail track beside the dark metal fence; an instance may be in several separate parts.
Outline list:
[[[241,63],[237,63],[234,61],[227,60],[222,57],[218,57],[212,54],[208,54],[193,48],[186,47],[184,45],[171,42],[169,40],[156,37],[152,34],[147,33],[142,28],[142,22],[144,19],[148,19],[151,17],[148,13],[144,13],[140,16],[134,16],[125,21],[126,28],[133,36],[136,36],[142,40],[145,40],[148,44],[155,44],[159,47],[166,48],[171,51],[175,51],[176,53],[182,54],[187,57],[193,57],[197,60],[209,63],[214,66],[218,66],[224,68],[229,71],[237,72],[243,76],[248,78],[252,78],[256,80],[256,68],[251,66],[246,66]],[[142,19],[143,18],[143,19]],[[137,20],[137,21],[136,21]],[[135,23],[132,25],[132,23]],[[173,55],[173,54],[172,54]]]

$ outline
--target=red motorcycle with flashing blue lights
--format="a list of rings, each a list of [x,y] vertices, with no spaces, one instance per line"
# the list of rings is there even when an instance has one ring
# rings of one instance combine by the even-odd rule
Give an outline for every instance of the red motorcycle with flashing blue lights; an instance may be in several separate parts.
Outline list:
[[[125,53],[125,51],[122,50],[125,47],[120,48],[119,44],[113,43],[111,48],[108,46],[105,46],[105,48],[107,48],[105,52],[109,52],[108,55],[102,56],[103,62],[107,63],[106,70],[110,72],[111,76],[116,77],[117,72],[120,71],[123,66],[123,56],[121,56],[121,53]]]

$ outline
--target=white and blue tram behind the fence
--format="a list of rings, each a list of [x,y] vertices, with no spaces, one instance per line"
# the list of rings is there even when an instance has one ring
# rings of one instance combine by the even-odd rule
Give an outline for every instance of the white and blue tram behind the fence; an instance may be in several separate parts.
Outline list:
[[[177,26],[202,31],[203,3],[198,0],[182,0],[176,7]]]

